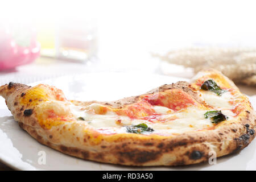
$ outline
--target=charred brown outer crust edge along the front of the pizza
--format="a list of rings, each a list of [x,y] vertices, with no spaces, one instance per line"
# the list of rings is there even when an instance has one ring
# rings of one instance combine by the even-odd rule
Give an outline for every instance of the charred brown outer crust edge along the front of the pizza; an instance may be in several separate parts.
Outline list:
[[[100,144],[85,148],[68,147],[57,144],[49,139],[42,131],[34,115],[25,118],[22,108],[15,105],[15,98],[29,88],[22,84],[15,86],[1,86],[0,94],[9,97],[8,107],[14,115],[19,126],[26,130],[38,142],[45,144],[65,154],[82,159],[94,160],[103,163],[122,164],[127,166],[178,166],[195,164],[209,159],[209,152],[215,151],[217,156],[236,152],[246,147],[255,137],[254,111],[246,111],[246,117],[232,125],[224,125],[216,130],[190,132],[172,138],[123,138],[114,143],[104,139]],[[6,92],[4,89],[8,89]],[[4,97],[6,97],[4,96]],[[26,108],[23,108],[23,110]],[[247,127],[249,125],[249,127]],[[84,143],[86,142],[84,137]]]

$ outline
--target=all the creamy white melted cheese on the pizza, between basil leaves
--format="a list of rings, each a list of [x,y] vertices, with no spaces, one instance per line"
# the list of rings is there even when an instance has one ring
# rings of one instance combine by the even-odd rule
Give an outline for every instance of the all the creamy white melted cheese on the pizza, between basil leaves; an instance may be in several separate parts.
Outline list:
[[[210,118],[205,118],[204,115],[210,110],[221,110],[229,119],[235,117],[232,112],[234,96],[230,92],[224,92],[221,96],[217,96],[216,93],[210,91],[201,90],[200,93],[201,99],[212,107],[193,105],[174,111],[165,106],[152,105],[155,115],[137,118],[118,114],[112,109],[105,109],[102,112],[102,107],[106,106],[100,104],[92,104],[85,109],[73,105],[71,110],[75,117],[84,118],[84,122],[88,123],[89,127],[104,134],[127,133],[125,126],[138,125],[140,123],[146,123],[148,127],[154,129],[152,132],[143,133],[146,135],[174,135],[189,131],[212,129],[215,124],[212,123]]]

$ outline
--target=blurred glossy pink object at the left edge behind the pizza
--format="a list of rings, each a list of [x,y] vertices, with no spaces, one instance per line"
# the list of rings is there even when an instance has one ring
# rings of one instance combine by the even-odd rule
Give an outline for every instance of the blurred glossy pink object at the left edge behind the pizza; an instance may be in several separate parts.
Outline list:
[[[23,32],[28,32],[28,35],[22,35]],[[35,31],[11,34],[7,28],[0,27],[0,71],[31,63],[39,55],[40,44],[36,42]]]

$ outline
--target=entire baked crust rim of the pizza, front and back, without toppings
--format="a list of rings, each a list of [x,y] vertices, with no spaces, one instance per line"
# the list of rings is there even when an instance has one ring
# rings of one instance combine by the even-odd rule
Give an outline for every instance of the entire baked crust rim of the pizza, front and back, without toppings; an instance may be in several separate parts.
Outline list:
[[[232,88],[237,89],[233,82],[220,72],[209,69],[202,73],[204,75],[214,73],[221,76]],[[246,109],[241,111],[240,117],[233,121],[221,123],[212,130],[189,131],[169,137],[133,133],[96,135],[93,131],[86,130],[86,126],[79,121],[60,123],[60,125],[47,129],[38,120],[38,114],[35,112],[38,109],[36,105],[20,104],[20,97],[24,97],[29,89],[30,86],[12,82],[0,87],[0,95],[6,99],[6,104],[19,126],[38,142],[64,154],[86,160],[126,166],[196,164],[207,161],[210,158],[210,151],[215,151],[217,157],[240,151],[255,137],[255,112],[249,101],[244,103]],[[196,86],[188,82],[162,85],[146,94],[163,92],[168,89],[183,90],[200,104],[207,105],[199,97],[200,93],[197,92]],[[138,99],[139,96],[134,96],[113,102],[71,102],[84,107],[92,103],[99,103],[113,108],[122,108],[137,102]],[[25,110],[35,111],[25,114]]]

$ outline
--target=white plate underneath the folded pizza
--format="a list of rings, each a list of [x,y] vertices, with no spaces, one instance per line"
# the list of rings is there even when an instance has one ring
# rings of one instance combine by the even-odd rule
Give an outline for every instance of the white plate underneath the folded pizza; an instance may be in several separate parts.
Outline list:
[[[162,84],[184,78],[140,75],[139,73],[89,73],[41,81],[60,88],[69,100],[112,101],[135,96]],[[31,85],[36,85],[34,83]],[[256,102],[251,100],[254,107]],[[90,162],[62,154],[38,143],[18,126],[0,99],[0,160],[15,169],[32,170],[256,170],[256,140],[237,154],[217,159],[217,164],[196,164],[185,167],[125,167]],[[43,153],[42,153],[43,151]],[[45,153],[44,153],[45,152]],[[46,164],[42,155],[46,154]]]

